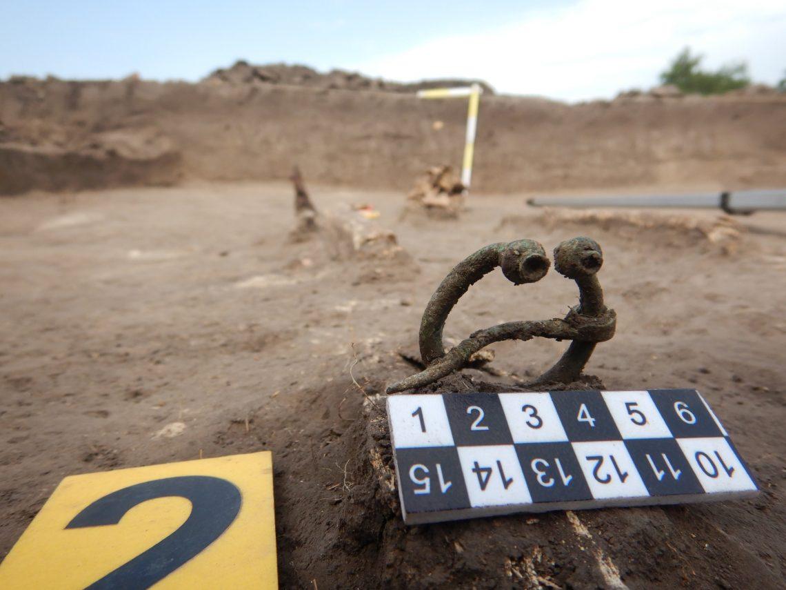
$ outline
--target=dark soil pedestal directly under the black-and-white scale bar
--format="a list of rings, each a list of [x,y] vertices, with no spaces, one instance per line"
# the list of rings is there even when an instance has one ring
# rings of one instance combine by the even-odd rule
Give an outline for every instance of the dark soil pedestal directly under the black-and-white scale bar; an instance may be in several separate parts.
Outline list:
[[[448,383],[439,393],[487,389],[483,382],[455,381],[464,383]],[[338,522],[343,540],[334,549],[371,550],[376,567],[340,586],[777,588],[759,559],[740,555],[736,541],[694,507],[560,511],[407,527],[384,404],[384,396],[367,396],[362,417],[348,429],[354,444],[347,448],[344,481],[351,489]]]

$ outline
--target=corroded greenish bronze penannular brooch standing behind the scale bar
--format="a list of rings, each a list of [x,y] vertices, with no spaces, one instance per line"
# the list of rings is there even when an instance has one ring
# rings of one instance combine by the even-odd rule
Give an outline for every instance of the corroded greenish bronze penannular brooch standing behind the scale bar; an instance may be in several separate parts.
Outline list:
[[[440,283],[421,319],[420,347],[426,369],[390,385],[387,393],[423,387],[468,367],[473,354],[494,342],[527,341],[534,337],[571,340],[571,345],[553,367],[529,385],[575,381],[595,345],[610,340],[616,325],[616,314],[604,305],[603,289],[596,276],[603,265],[601,246],[590,238],[573,238],[554,249],[556,271],[575,280],[578,286],[578,305],[564,319],[501,323],[476,331],[448,352],[443,346],[447,316],[483,275],[501,267],[509,281],[521,285],[539,281],[549,271],[550,264],[543,246],[533,240],[487,245],[462,260]]]

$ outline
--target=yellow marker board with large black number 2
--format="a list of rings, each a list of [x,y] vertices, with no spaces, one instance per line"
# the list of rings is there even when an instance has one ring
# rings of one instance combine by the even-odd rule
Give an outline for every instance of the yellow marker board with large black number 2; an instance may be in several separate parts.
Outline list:
[[[270,452],[65,478],[0,588],[277,588]]]

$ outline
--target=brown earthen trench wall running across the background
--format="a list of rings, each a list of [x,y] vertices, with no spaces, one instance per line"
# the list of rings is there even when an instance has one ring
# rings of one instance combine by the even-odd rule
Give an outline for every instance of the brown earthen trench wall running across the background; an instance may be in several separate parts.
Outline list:
[[[466,101],[424,101],[414,94],[417,85],[351,90],[371,82],[310,72],[236,65],[196,84],[134,77],[0,82],[0,178],[13,179],[0,193],[170,183],[180,175],[285,179],[292,162],[310,183],[406,191],[424,166],[461,162]],[[784,127],[782,94],[580,105],[483,94],[473,190],[780,186]],[[102,145],[108,133],[160,137],[167,156],[140,164],[75,155]]]

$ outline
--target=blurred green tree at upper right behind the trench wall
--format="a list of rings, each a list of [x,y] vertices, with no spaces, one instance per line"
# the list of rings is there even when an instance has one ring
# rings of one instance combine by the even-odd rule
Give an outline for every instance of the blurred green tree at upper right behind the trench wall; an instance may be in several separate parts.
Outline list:
[[[660,74],[660,82],[674,84],[689,94],[723,94],[729,90],[744,88],[751,83],[747,75],[747,64],[740,61],[724,65],[717,72],[701,69],[703,56],[692,55],[685,47],[665,72]]]

